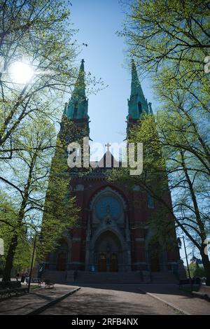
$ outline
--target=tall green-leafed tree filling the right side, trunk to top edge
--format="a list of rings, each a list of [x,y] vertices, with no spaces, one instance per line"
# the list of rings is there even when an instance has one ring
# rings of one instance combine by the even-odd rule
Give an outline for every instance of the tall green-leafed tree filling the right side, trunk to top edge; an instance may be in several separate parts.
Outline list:
[[[155,116],[157,145],[165,160],[154,165],[144,158],[149,176],[167,177],[173,209],[142,177],[151,195],[164,204],[202,255],[210,284],[209,235],[209,75],[204,58],[209,45],[208,1],[131,1],[123,36],[141,73],[147,73],[161,102]],[[137,127],[134,140],[150,149],[151,119]],[[154,151],[152,151],[154,152]],[[153,153],[152,153],[153,154]],[[149,162],[148,162],[149,161]],[[150,167],[147,167],[147,164]],[[161,180],[162,181],[162,180]],[[156,184],[157,185],[157,184]],[[163,188],[165,183],[163,182]],[[158,220],[159,218],[159,220]],[[158,216],[156,230],[166,223]]]

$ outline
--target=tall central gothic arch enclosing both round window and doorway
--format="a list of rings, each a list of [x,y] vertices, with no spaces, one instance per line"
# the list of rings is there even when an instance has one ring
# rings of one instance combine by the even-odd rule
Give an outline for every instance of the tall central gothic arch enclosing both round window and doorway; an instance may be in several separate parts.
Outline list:
[[[92,195],[85,246],[87,271],[102,270],[102,260],[99,261],[101,253],[106,255],[106,272],[131,270],[128,208],[123,191],[120,193],[111,186],[106,186]]]

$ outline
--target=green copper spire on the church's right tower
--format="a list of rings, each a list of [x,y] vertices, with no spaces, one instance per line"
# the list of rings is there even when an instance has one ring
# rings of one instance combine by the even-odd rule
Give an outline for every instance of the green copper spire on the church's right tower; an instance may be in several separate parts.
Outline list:
[[[150,113],[150,109],[141,89],[136,65],[132,59],[132,83],[130,99],[128,99],[128,118],[139,120],[143,113]]]

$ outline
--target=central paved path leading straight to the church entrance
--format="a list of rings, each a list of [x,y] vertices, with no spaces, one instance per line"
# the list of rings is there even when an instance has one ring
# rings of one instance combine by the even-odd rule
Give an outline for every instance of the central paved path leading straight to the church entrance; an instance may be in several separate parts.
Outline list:
[[[83,286],[41,314],[179,314],[166,304],[141,293],[138,288],[137,284]]]

